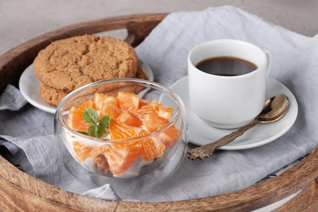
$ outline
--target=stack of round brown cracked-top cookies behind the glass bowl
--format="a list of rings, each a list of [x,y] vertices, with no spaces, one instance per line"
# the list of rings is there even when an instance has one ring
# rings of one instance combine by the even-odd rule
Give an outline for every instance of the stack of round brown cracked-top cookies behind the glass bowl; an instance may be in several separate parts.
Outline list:
[[[101,80],[146,79],[134,48],[119,39],[93,35],[52,42],[33,62],[40,79],[40,95],[58,103],[71,91]]]

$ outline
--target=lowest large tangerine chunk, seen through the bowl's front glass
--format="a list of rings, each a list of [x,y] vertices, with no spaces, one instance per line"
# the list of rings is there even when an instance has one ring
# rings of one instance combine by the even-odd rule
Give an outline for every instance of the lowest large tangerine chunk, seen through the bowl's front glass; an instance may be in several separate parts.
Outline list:
[[[134,163],[139,154],[140,147],[138,144],[109,149],[107,161],[110,171],[113,174],[121,174]]]

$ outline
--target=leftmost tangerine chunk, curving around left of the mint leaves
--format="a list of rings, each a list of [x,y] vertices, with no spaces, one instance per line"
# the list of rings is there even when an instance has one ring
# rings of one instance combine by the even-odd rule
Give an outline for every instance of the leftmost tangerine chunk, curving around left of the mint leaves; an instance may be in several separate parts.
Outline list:
[[[78,132],[87,132],[90,125],[83,118],[83,112],[88,108],[95,108],[94,102],[88,100],[77,108],[72,107],[67,120],[69,127]]]

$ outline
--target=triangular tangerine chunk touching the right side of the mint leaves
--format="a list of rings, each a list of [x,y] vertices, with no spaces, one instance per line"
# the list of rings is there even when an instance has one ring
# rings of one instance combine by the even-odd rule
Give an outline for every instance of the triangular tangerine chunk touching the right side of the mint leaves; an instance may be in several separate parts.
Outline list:
[[[116,119],[110,119],[109,131],[110,137],[112,139],[130,138],[137,136],[137,131],[134,129],[134,127],[129,126],[128,124],[125,124]]]

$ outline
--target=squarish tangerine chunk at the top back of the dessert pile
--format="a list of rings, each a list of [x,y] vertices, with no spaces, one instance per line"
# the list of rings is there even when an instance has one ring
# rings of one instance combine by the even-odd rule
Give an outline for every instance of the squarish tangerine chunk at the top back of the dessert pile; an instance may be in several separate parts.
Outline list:
[[[140,97],[137,94],[118,92],[117,98],[120,109],[130,112],[138,110]]]

